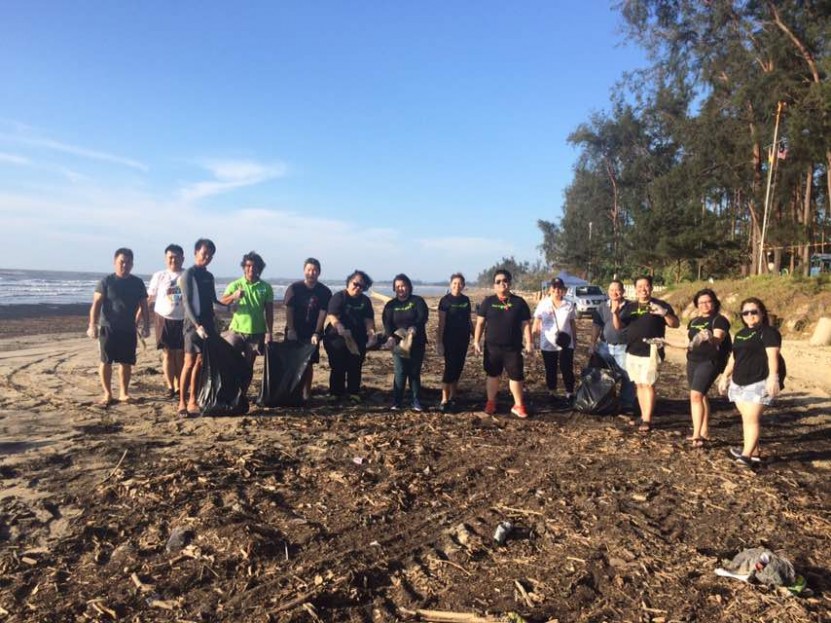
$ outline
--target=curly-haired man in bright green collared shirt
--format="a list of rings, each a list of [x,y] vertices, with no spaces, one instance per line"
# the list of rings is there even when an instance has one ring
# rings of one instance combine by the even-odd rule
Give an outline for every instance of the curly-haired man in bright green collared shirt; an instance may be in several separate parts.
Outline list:
[[[219,299],[223,305],[234,305],[231,327],[222,334],[237,349],[252,368],[265,342],[271,342],[274,326],[274,290],[260,279],[265,262],[251,251],[242,257],[243,276],[232,281]]]

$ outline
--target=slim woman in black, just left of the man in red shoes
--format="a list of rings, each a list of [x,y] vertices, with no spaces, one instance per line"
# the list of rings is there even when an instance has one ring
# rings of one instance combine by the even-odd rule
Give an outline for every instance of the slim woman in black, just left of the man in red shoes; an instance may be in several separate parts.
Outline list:
[[[470,299],[462,294],[465,277],[461,273],[450,275],[450,293],[439,301],[439,328],[436,331],[436,351],[444,357],[444,373],[441,377],[441,411],[456,410],[456,391],[465,367],[467,349],[473,323],[470,320]]]

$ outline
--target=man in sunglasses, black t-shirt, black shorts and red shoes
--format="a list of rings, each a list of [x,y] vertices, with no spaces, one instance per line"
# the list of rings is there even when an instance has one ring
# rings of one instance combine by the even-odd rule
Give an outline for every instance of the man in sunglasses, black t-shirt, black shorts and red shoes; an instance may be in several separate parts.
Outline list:
[[[508,388],[514,399],[511,413],[519,418],[528,417],[523,401],[525,367],[523,351],[531,354],[531,309],[520,296],[511,292],[511,273],[499,269],[493,276],[494,293],[479,304],[476,328],[473,333],[473,349],[482,354],[482,333],[485,333],[484,366],[487,381],[485,413],[496,413],[496,396],[502,372],[508,375]],[[524,349],[523,349],[524,343]]]

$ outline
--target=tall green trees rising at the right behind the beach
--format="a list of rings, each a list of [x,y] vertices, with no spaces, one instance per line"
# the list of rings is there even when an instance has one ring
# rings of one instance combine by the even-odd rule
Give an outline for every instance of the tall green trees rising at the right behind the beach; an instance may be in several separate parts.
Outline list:
[[[788,154],[773,161],[766,247],[775,262],[799,261],[810,247],[794,245],[831,238],[831,4],[617,8],[652,66],[626,76],[612,110],[569,136],[580,155],[562,219],[538,221],[546,261],[669,283],[752,272],[778,102]]]

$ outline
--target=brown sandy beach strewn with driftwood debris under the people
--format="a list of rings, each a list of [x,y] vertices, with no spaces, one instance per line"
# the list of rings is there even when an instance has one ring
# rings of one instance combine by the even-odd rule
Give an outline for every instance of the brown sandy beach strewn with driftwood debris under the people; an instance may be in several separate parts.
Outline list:
[[[763,423],[768,458],[749,472],[728,458],[741,429],[723,399],[712,443],[685,443],[679,348],[667,349],[646,436],[628,418],[550,404],[538,358],[528,421],[508,416],[504,394],[497,416],[480,410],[472,356],[461,412],[438,413],[434,353],[432,410],[390,413],[392,362],[380,351],[368,355],[361,405],[324,400],[323,354],[306,409],[182,421],[152,339],[138,355],[139,403],[95,406],[87,312],[0,308],[2,621],[819,621],[829,611],[828,348],[786,342],[786,392]],[[579,321],[578,369],[589,326]],[[683,345],[683,332],[671,339]],[[513,530],[500,547],[503,520]],[[713,573],[762,544],[812,592],[786,597]]]

